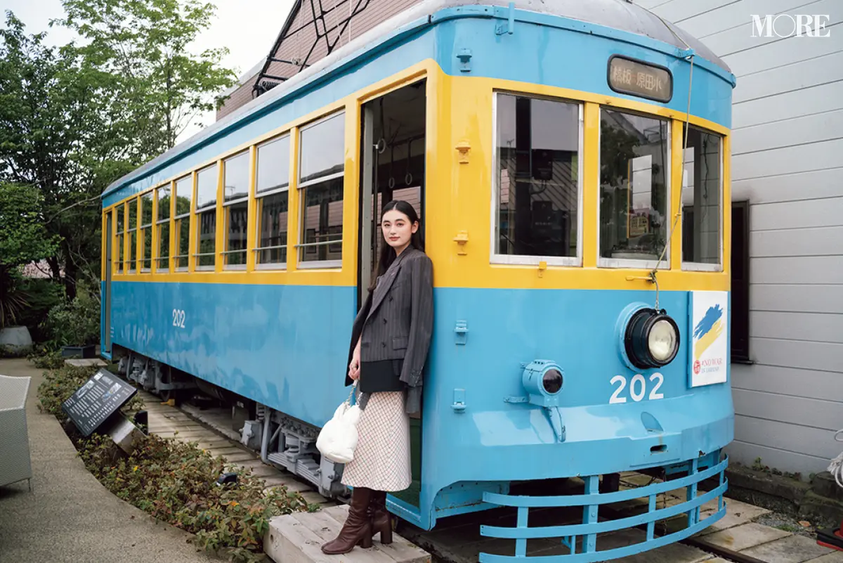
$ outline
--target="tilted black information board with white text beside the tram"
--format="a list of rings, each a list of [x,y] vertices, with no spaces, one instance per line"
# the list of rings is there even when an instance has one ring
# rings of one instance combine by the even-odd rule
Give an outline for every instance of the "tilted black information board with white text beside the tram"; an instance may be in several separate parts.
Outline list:
[[[100,369],[70,399],[62,403],[62,410],[83,436],[90,436],[136,393],[137,389],[132,385]]]

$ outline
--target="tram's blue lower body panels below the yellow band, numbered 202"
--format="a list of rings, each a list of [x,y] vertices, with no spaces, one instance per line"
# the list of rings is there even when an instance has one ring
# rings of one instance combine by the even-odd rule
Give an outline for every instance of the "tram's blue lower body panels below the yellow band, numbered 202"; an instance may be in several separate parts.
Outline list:
[[[347,394],[340,382],[355,293],[353,287],[115,281],[114,342],[322,426]],[[510,480],[662,466],[731,442],[728,383],[693,392],[688,387],[690,338],[681,322],[689,314],[687,292],[661,293],[662,307],[682,327],[676,360],[640,372],[647,383],[640,402],[627,384],[620,395],[626,404],[609,405],[617,387],[611,378],[625,375],[630,382],[636,375],[615,345],[617,321],[630,303],[651,299],[651,292],[437,288],[422,419],[421,506],[435,505],[440,513],[405,505],[406,517],[427,528],[437,516],[477,509],[483,491],[507,491]],[[174,326],[174,309],[185,311],[184,328]],[[454,333],[459,320],[469,330],[464,345]],[[539,358],[564,371],[563,443],[543,408],[505,401],[525,394],[522,364]],[[663,399],[650,399],[657,371]],[[454,389],[464,389],[462,411],[452,408]],[[648,430],[652,420],[663,432]],[[661,445],[663,453],[651,453]],[[466,481],[486,486],[437,497]]]

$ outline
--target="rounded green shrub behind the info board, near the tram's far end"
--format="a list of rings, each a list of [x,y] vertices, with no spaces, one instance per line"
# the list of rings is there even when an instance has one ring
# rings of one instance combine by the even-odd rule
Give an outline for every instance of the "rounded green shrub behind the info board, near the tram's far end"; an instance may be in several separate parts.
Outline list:
[[[99,302],[86,292],[79,292],[72,301],[65,301],[47,314],[47,346],[86,346],[99,342]]]

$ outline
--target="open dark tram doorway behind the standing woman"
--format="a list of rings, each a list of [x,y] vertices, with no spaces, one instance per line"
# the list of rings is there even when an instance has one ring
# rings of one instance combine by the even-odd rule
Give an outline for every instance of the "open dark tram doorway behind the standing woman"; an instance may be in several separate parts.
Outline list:
[[[373,268],[383,248],[381,210],[393,200],[410,203],[418,213],[425,241],[425,155],[427,81],[409,84],[362,106],[360,249],[358,307],[366,300]],[[396,499],[419,506],[421,491],[421,414],[410,419],[412,484]]]

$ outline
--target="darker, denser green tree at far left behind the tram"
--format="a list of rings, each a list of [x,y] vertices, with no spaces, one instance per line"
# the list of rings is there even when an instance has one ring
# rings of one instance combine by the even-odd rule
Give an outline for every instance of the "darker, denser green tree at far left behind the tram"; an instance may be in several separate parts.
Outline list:
[[[151,154],[120,78],[44,37],[11,12],[0,29],[0,181],[40,190],[40,217],[61,240],[47,262],[72,299],[78,276],[99,274],[99,193]]]

